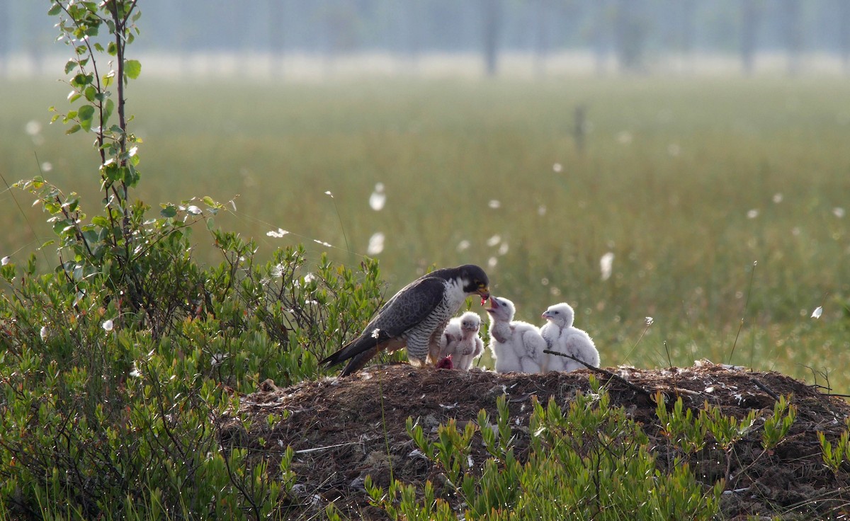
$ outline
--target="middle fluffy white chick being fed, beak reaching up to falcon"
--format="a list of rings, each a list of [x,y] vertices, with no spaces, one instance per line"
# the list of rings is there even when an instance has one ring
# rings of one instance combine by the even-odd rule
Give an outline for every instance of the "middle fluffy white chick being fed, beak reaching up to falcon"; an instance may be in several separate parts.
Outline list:
[[[513,320],[516,308],[504,297],[490,297],[490,350],[496,372],[541,372],[546,341],[536,326]]]

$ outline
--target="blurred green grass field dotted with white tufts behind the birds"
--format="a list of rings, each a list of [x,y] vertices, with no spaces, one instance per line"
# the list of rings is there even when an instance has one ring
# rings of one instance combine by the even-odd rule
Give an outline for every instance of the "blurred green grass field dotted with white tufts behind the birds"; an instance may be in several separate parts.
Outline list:
[[[3,177],[48,162],[45,177],[97,212],[91,136],[47,125],[67,89],[44,79],[0,93]],[[149,80],[131,85],[128,104],[144,139],[137,195],[154,207],[235,198],[216,222],[261,252],[303,241],[318,257],[319,240],[355,263],[381,232],[390,291],[432,264],[480,263],[519,319],[540,323],[548,305],[571,303],[604,365],[731,356],[808,382],[826,373],[850,392],[845,79]],[[41,123],[36,135],[28,122]],[[377,183],[380,211],[369,205]],[[19,190],[2,203],[0,254],[20,262],[52,238],[46,215]],[[277,228],[292,234],[266,236]],[[205,229],[195,241],[198,258],[217,262]]]

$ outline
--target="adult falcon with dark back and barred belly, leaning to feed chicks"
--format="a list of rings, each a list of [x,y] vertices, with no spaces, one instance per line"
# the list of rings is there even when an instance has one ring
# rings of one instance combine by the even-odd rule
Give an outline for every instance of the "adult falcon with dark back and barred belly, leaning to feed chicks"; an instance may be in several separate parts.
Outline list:
[[[386,350],[407,347],[407,360],[413,365],[432,365],[439,355],[439,337],[461,304],[471,295],[481,296],[481,305],[490,298],[490,281],[484,269],[474,264],[444,268],[422,275],[378,309],[360,337],[331,354],[322,364],[337,365],[348,360],[341,376],[363,367],[373,356]]]

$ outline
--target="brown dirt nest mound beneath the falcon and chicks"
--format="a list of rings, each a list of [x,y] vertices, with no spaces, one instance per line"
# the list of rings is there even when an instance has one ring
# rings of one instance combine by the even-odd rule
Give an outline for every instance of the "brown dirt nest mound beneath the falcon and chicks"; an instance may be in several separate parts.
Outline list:
[[[413,452],[416,447],[405,432],[408,416],[428,433],[450,418],[461,425],[474,421],[481,409],[496,416],[496,398],[505,394],[512,419],[528,426],[532,396],[543,404],[553,397],[565,406],[577,392],[589,390],[590,375],[590,371],[500,375],[479,370],[419,370],[409,365],[372,366],[352,377],[302,382],[291,388],[263,382],[257,393],[241,400],[241,416],[247,416],[248,422],[224,417],[219,425],[224,445],[237,441],[273,459],[287,445],[297,451],[292,470],[297,474],[295,491],[302,502],[292,506],[296,511],[308,514],[335,501],[354,518],[385,518],[366,501],[366,474],[386,487],[392,463],[395,478],[405,483],[439,481],[436,467]],[[791,394],[798,413],[785,441],[766,454],[762,431],[755,429],[735,445],[733,480],[723,495],[724,517],[783,513],[787,518],[823,518],[850,510],[850,492],[844,488],[850,473],[842,469],[836,476],[825,468],[817,437],[818,431],[827,439],[840,436],[850,415],[850,406],[843,399],[821,394],[817,388],[779,373],[711,364],[658,370],[620,368],[596,377],[604,382],[612,405],[625,407],[635,421],[643,423],[656,448],[659,467],[668,462],[667,440],[659,433],[655,415],[656,391],[674,400],[681,397],[683,405],[694,409],[707,401],[736,417],[751,410],[766,410],[769,416],[776,399]],[[286,417],[269,426],[270,414]],[[514,430],[518,435],[515,447],[522,458],[528,433]],[[482,462],[486,458],[483,453],[473,456],[476,463],[479,457]],[[727,458],[718,447],[709,444],[696,458],[691,466],[697,479],[706,484],[726,473]]]

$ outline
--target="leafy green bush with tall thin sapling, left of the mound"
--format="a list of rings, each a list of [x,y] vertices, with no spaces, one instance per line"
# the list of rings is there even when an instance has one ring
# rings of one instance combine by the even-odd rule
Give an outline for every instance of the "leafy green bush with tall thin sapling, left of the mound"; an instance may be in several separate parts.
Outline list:
[[[124,57],[136,3],[57,0],[50,13],[74,49],[69,99],[82,104],[54,120],[94,133],[104,203],[89,219],[74,193],[18,184],[48,213],[60,263],[0,268],[0,518],[282,517],[292,450],[255,454],[215,420],[266,378],[319,375],[380,303],[377,263],[310,266],[302,246],[260,263],[253,241],[215,228],[221,205],[208,197],[156,216],[131,202],[139,140],[123,88],[141,67]],[[111,42],[98,40],[104,28]],[[98,71],[102,53],[115,70]],[[201,222],[218,266],[192,258]]]

